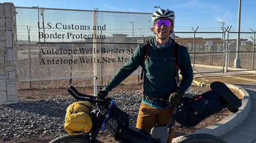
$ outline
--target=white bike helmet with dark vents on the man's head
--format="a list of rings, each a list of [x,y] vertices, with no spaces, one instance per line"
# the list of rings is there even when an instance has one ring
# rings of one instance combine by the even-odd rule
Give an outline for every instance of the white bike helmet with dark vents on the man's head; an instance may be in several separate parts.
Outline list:
[[[152,21],[153,23],[160,18],[167,18],[170,19],[174,25],[174,11],[170,11],[169,9],[158,9],[156,12],[153,13],[152,15]]]

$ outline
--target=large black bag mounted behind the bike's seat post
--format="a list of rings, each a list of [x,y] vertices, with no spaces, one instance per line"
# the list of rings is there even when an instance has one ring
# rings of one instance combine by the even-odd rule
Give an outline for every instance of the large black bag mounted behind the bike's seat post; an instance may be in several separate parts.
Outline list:
[[[225,108],[223,99],[215,91],[207,91],[191,98],[188,104],[183,104],[177,111],[175,120],[185,127],[194,127],[206,117],[222,111]]]

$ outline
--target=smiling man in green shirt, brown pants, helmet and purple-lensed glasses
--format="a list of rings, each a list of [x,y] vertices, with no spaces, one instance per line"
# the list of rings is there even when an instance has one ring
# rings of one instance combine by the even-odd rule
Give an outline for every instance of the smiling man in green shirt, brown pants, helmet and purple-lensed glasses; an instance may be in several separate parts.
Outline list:
[[[175,41],[170,38],[174,30],[174,11],[159,9],[153,13],[153,28],[156,36],[148,44],[147,58],[144,61],[142,102],[136,127],[150,133],[156,125],[167,125],[172,112],[184,92],[191,85],[193,70],[187,48],[179,45],[178,65],[182,81],[177,85],[177,71],[174,63]],[[132,57],[113,76],[111,81],[98,92],[106,96],[108,92],[135,71],[143,59],[143,44],[137,46]],[[172,142],[174,130],[167,142]]]

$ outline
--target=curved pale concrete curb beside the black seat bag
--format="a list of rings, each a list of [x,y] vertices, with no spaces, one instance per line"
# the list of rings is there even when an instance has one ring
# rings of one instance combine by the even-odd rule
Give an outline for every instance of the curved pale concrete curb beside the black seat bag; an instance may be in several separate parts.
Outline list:
[[[240,94],[243,96],[242,100],[242,106],[239,108],[239,111],[237,113],[231,113],[227,117],[225,117],[222,121],[211,125],[209,127],[206,127],[204,129],[195,131],[191,134],[196,134],[196,133],[206,133],[206,134],[212,134],[215,136],[221,136],[225,134],[226,132],[234,129],[235,127],[238,126],[241,122],[244,121],[246,116],[248,115],[250,111],[250,106],[251,106],[251,100],[249,97],[248,92],[239,86],[234,86],[232,84],[226,84],[229,88],[236,89],[239,91]],[[176,138],[173,138],[173,141],[177,141],[179,138],[183,136],[179,136]]]

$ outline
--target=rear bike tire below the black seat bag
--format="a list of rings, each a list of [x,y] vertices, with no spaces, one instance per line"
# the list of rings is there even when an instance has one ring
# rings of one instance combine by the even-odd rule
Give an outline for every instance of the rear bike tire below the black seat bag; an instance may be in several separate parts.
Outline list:
[[[211,134],[203,134],[203,133],[186,135],[178,139],[177,141],[175,141],[175,143],[206,143],[206,142],[228,143],[227,141],[225,141],[224,139],[218,136],[211,135]]]

